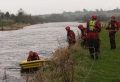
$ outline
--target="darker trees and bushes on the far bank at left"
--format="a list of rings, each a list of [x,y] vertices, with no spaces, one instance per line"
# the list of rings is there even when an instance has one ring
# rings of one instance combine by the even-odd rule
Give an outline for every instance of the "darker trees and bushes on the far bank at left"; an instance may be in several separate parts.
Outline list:
[[[23,9],[19,9],[18,13],[10,14],[9,12],[0,11],[0,26],[7,26],[14,23],[30,23],[37,24],[42,23],[44,20],[38,16],[32,16],[31,14],[26,14]]]

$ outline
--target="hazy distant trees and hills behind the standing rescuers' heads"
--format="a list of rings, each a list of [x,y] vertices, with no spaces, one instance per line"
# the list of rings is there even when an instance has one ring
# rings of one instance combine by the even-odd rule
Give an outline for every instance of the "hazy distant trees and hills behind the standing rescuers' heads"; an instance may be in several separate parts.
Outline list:
[[[112,15],[116,15],[116,19],[120,20],[120,9],[116,8],[113,10],[103,10],[96,9],[95,11],[88,11],[83,9],[83,11],[75,11],[75,12],[63,12],[61,14],[47,14],[47,15],[39,15],[43,17],[47,22],[67,22],[67,21],[81,21],[86,22],[91,19],[92,14],[98,15],[99,21],[108,21],[110,20]]]

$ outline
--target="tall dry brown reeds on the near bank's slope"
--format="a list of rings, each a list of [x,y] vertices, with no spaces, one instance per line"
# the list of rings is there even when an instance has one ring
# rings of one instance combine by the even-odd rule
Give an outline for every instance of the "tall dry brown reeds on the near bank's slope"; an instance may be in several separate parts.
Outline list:
[[[75,53],[83,52],[80,49],[79,39],[71,48],[59,46],[48,63],[41,66],[40,70],[34,73],[34,77],[30,77],[32,80],[28,80],[27,77],[26,82],[76,82],[75,65],[82,58],[80,58],[81,55]],[[79,68],[85,69],[83,65]]]

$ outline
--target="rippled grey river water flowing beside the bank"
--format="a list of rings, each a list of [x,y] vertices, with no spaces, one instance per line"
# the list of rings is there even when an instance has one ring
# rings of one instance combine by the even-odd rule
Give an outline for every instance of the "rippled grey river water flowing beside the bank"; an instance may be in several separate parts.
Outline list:
[[[28,52],[33,50],[40,58],[52,57],[52,52],[58,46],[67,45],[65,27],[70,26],[77,35],[79,24],[78,22],[44,23],[20,30],[0,31],[0,82],[24,82],[20,69],[14,68],[20,68],[19,63],[27,58]]]

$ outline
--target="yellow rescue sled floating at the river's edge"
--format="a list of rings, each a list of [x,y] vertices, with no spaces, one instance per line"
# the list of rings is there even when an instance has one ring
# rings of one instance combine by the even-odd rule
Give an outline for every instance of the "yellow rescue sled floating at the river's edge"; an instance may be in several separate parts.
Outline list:
[[[22,69],[30,69],[30,68],[37,68],[40,67],[41,65],[43,65],[44,62],[47,62],[48,59],[41,59],[41,60],[33,60],[33,61],[27,61],[24,60],[22,62],[20,62],[20,67]]]

